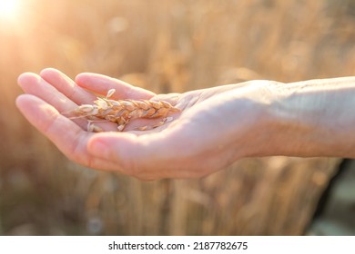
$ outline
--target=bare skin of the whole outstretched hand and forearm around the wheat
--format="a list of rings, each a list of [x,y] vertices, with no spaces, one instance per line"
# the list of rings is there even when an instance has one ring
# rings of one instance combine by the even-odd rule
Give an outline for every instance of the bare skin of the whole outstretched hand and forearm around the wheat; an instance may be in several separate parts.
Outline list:
[[[120,171],[144,181],[197,178],[245,157],[355,157],[355,78],[301,83],[250,81],[188,93],[156,94],[96,73],[75,82],[56,69],[23,73],[25,94],[16,105],[66,157],[86,167]],[[125,132],[97,122],[105,132],[86,132],[86,119],[67,112],[96,100],[164,100],[181,110],[174,120],[139,132],[158,120],[134,120]]]

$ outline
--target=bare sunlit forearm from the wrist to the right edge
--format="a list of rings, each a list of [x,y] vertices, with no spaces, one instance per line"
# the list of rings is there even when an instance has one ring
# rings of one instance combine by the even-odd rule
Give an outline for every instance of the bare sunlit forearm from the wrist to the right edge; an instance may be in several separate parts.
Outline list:
[[[279,84],[259,155],[355,158],[355,78]]]

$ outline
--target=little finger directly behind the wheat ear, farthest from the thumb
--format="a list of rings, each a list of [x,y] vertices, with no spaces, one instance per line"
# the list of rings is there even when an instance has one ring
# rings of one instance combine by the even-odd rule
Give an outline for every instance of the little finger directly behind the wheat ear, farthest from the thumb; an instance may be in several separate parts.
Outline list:
[[[155,95],[143,88],[96,73],[80,73],[76,76],[76,83],[87,90],[102,95],[106,95],[110,89],[115,89],[116,93],[111,97],[114,100],[148,100]]]

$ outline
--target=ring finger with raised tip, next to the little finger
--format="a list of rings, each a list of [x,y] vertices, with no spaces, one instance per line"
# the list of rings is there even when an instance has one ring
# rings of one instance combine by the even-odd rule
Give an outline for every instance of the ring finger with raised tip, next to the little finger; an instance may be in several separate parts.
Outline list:
[[[67,98],[78,105],[92,103],[96,100],[96,96],[93,93],[89,93],[79,87],[72,79],[66,76],[66,74],[56,69],[47,68],[43,70],[40,75],[47,83],[56,87],[57,91],[63,93]]]

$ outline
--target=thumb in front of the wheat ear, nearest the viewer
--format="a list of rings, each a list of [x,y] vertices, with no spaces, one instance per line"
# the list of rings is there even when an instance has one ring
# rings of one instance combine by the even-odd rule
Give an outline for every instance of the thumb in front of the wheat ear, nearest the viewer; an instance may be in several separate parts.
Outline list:
[[[181,149],[184,142],[178,142],[174,136],[174,132],[146,135],[129,132],[98,133],[89,139],[87,151],[95,157],[116,161],[125,174],[143,180],[194,177],[196,171],[183,171],[180,163],[189,163],[188,157],[184,158],[191,153],[188,145]],[[177,142],[173,142],[174,140]]]

